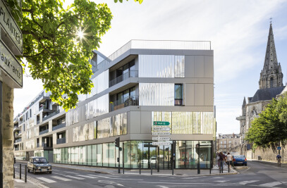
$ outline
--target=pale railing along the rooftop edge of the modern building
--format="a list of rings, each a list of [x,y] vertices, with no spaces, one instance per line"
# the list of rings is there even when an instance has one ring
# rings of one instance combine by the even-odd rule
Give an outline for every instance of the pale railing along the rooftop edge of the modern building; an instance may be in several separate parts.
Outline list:
[[[121,46],[111,56],[100,63],[94,63],[93,71],[103,68],[105,65],[114,61],[129,49],[182,49],[182,50],[211,50],[210,41],[176,41],[176,40],[130,40],[130,42]],[[92,61],[92,60],[90,60]]]

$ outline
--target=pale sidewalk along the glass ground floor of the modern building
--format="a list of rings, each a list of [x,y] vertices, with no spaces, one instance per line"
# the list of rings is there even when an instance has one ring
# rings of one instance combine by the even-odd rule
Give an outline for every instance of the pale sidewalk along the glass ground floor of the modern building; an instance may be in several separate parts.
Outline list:
[[[26,161],[22,161],[26,162]],[[27,162],[26,162],[27,163]],[[53,167],[59,168],[68,168],[74,170],[85,170],[93,173],[102,173],[102,174],[110,174],[110,175],[118,175],[118,168],[100,168],[94,166],[83,166],[83,165],[66,165],[59,163],[51,163]],[[123,168],[121,168],[121,174],[123,173]],[[219,169],[217,167],[212,168],[211,173],[209,169],[200,170],[200,174],[197,174],[197,169],[175,169],[173,171],[173,175],[182,175],[182,176],[201,176],[201,175],[234,175],[238,172],[233,168],[230,169],[230,173],[228,173],[228,168],[224,168],[224,173],[219,173]],[[140,175],[139,169],[125,169],[125,174],[127,175]],[[151,175],[151,170],[141,170],[141,175]],[[152,175],[172,175],[172,170],[159,170],[157,173],[157,169],[152,170]]]

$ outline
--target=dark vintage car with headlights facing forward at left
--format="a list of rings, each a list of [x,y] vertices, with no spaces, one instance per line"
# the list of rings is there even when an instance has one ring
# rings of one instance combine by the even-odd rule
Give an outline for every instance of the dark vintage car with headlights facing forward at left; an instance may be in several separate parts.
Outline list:
[[[30,157],[28,162],[28,173],[32,171],[35,173],[50,173],[51,174],[51,164],[44,157]]]

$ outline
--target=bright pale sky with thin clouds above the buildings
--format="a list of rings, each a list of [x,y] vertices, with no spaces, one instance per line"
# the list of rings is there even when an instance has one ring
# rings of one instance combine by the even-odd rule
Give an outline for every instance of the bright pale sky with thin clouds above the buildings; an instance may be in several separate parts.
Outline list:
[[[65,1],[65,5],[72,1]],[[133,0],[106,3],[114,15],[99,50],[109,56],[131,39],[211,41],[217,134],[239,133],[243,97],[259,89],[259,74],[272,18],[277,59],[287,78],[287,1]],[[15,89],[14,115],[42,91],[42,82],[23,78]]]

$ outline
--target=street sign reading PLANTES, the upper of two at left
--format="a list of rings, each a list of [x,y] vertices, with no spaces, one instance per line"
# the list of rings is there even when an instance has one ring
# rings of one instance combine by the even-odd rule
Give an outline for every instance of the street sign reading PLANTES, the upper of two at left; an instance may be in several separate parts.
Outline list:
[[[16,21],[8,11],[4,0],[0,0],[0,25],[5,30],[20,54],[23,54],[23,36]]]

